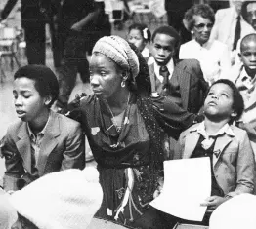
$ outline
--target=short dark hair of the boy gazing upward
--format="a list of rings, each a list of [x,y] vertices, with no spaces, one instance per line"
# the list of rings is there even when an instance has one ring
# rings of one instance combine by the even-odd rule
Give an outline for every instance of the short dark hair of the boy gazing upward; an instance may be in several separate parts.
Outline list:
[[[243,102],[243,98],[242,98],[242,95],[240,94],[239,90],[236,88],[235,84],[232,81],[227,80],[227,79],[217,80],[216,82],[214,82],[211,85],[211,87],[215,84],[226,84],[232,89],[233,100],[234,100],[233,109],[236,113],[236,116],[231,118],[230,123],[235,120],[238,120],[241,117],[242,112],[244,110],[244,102]],[[209,91],[210,91],[211,87],[209,88]]]

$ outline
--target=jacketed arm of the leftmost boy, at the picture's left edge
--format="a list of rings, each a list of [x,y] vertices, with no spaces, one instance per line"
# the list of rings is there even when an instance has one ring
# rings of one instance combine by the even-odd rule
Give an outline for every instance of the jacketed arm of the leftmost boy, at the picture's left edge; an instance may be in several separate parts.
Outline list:
[[[25,173],[23,169],[21,155],[12,139],[9,131],[1,139],[0,154],[5,159],[6,171],[3,177],[3,186],[6,191],[19,190],[18,181]]]

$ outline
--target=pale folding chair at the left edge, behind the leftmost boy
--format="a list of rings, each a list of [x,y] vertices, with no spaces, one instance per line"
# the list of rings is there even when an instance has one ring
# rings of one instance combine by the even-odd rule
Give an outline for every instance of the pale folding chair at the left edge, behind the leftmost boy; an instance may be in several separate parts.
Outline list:
[[[17,33],[16,29],[12,27],[1,27],[0,28],[0,69],[1,69],[1,82],[3,77],[6,77],[3,68],[3,58],[10,57],[10,66],[12,71],[14,70],[14,60],[20,67],[21,64],[16,56],[17,53]]]

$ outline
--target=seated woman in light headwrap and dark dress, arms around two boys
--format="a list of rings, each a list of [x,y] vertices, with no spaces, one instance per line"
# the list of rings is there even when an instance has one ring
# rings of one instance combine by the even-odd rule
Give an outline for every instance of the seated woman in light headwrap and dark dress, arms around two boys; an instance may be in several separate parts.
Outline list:
[[[179,133],[194,116],[171,102],[163,106],[168,98],[152,103],[147,63],[120,37],[96,43],[90,81],[94,94],[78,98],[69,107],[77,109],[68,113],[82,123],[98,163],[104,199],[96,216],[135,228],[164,228],[157,210],[149,207],[162,177],[159,125]]]

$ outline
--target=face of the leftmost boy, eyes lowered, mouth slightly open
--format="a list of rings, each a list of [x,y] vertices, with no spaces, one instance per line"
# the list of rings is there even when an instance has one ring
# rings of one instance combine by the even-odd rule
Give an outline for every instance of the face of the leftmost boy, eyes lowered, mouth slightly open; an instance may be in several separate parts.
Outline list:
[[[13,95],[16,113],[24,122],[34,122],[48,109],[46,106],[48,99],[39,95],[34,80],[26,77],[16,79]]]

